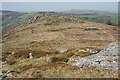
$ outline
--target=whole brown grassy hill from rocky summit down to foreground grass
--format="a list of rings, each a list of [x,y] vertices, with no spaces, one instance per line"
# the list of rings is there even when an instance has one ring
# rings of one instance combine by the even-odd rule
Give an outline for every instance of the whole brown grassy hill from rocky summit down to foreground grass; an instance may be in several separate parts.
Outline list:
[[[118,77],[117,70],[79,69],[71,65],[74,62],[69,62],[71,57],[97,54],[109,43],[118,40],[117,27],[49,12],[31,15],[34,16],[3,33],[3,73],[9,70],[20,72],[11,78]],[[19,18],[23,20],[25,16],[28,14]],[[78,48],[98,52],[78,52]],[[62,49],[68,51],[61,53]],[[34,58],[30,59],[29,53],[33,53]]]

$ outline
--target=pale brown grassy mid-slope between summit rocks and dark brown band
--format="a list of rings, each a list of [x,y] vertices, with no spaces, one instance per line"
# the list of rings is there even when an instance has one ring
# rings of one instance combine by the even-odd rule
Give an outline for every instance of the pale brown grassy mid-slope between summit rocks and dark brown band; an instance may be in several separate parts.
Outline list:
[[[99,30],[84,31],[86,28],[98,28]],[[11,31],[10,36],[8,33],[10,31],[5,33],[3,52],[15,49],[50,51],[88,46],[104,48],[110,42],[117,40],[118,33],[114,28],[114,26],[87,21],[85,23],[60,23],[59,25],[29,24],[25,28],[16,27]]]

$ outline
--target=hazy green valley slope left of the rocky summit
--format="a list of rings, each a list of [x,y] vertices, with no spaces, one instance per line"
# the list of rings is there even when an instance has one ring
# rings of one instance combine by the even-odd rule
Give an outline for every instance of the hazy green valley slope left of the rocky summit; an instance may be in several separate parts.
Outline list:
[[[37,13],[21,13],[15,11],[2,10],[2,25],[3,30],[6,30],[18,23],[24,21],[26,18],[36,15]]]

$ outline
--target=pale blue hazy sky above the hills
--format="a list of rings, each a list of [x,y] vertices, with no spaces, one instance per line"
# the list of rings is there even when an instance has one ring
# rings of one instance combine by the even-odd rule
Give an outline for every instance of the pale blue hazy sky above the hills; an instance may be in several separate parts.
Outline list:
[[[3,10],[18,12],[67,11],[71,9],[117,12],[117,2],[3,2]]]

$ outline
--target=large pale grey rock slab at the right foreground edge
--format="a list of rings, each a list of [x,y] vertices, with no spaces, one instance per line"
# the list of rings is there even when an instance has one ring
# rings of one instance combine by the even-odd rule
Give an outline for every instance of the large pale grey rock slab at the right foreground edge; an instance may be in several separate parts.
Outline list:
[[[98,54],[91,55],[84,58],[71,58],[70,61],[77,61],[72,65],[84,68],[86,66],[97,66],[104,69],[118,69],[118,54],[120,42],[115,41],[109,44],[104,50]]]

